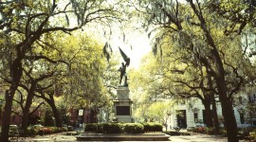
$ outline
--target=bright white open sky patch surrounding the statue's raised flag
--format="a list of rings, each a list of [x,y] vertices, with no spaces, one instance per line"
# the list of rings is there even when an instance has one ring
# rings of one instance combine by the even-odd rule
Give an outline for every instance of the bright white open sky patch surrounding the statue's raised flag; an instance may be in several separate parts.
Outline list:
[[[119,56],[119,64],[124,62],[119,53],[119,47],[130,58],[129,68],[138,69],[141,59],[152,51],[150,40],[145,31],[141,30],[129,30],[125,34],[125,41],[123,40],[123,33],[119,29],[112,29],[111,37],[98,37],[98,40],[108,42],[111,44],[111,48],[114,52],[114,56]],[[86,28],[86,33],[100,34],[101,31],[96,28]],[[103,43],[104,43],[103,42]]]

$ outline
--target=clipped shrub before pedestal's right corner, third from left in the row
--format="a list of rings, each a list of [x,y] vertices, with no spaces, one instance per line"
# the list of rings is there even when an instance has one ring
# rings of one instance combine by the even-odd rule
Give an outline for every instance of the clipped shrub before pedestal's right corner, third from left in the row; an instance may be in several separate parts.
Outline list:
[[[143,133],[144,127],[139,123],[123,124],[123,133]]]

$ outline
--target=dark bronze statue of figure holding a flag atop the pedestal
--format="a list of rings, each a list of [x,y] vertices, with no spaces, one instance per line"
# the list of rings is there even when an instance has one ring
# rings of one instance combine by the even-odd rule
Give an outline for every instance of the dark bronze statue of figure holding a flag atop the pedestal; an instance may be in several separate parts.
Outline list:
[[[119,51],[121,54],[122,59],[124,60],[124,62],[121,62],[121,66],[119,67],[119,72],[120,72],[120,80],[119,80],[119,85],[121,84],[121,80],[124,76],[124,82],[123,82],[123,86],[128,86],[127,83],[127,74],[126,74],[126,67],[129,66],[130,64],[130,58],[127,57],[127,55],[120,49],[119,47]]]

